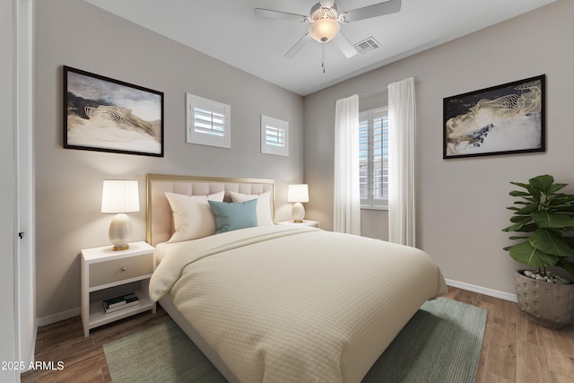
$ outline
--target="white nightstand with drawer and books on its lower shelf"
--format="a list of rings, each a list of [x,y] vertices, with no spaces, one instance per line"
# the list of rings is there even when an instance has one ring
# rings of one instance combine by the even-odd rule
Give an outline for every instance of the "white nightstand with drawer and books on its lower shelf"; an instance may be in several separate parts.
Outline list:
[[[134,242],[123,251],[112,246],[82,250],[82,325],[83,335],[90,329],[106,325],[148,309],[155,313],[155,302],[150,299],[149,284],[155,270],[155,249],[145,242]],[[139,286],[124,286],[139,282]],[[126,291],[130,289],[129,291]],[[118,293],[119,292],[119,293]],[[139,303],[135,306],[106,313],[101,301],[127,292],[135,292]]]

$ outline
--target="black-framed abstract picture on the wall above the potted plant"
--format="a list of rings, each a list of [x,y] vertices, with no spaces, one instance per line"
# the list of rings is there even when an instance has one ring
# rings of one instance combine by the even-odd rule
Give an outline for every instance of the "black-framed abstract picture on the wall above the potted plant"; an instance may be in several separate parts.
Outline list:
[[[545,152],[545,75],[443,99],[443,159]]]

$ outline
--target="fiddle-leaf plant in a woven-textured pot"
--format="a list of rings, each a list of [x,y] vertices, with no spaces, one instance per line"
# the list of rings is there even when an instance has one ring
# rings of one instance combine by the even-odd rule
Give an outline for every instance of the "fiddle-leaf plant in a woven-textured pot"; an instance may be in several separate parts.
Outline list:
[[[561,328],[574,323],[574,195],[559,192],[568,184],[556,183],[549,175],[530,178],[527,184],[510,182],[523,190],[508,209],[512,225],[503,231],[518,232],[510,239],[518,243],[504,248],[517,262],[536,267],[515,274],[520,309],[536,323]],[[565,275],[552,274],[556,266]]]

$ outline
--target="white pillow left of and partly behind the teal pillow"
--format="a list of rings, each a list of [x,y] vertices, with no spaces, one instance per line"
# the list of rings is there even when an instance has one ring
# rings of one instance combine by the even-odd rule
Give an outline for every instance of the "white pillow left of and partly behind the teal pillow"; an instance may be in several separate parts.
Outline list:
[[[225,192],[209,196],[185,196],[165,192],[173,212],[175,232],[168,242],[198,239],[215,234],[215,218],[207,200],[223,202]]]

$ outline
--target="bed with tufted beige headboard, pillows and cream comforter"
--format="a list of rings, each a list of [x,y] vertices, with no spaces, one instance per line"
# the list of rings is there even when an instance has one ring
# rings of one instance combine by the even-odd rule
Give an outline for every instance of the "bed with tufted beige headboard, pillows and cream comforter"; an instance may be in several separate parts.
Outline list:
[[[231,382],[361,381],[447,292],[422,250],[274,225],[272,179],[150,174],[147,205],[152,299]]]

